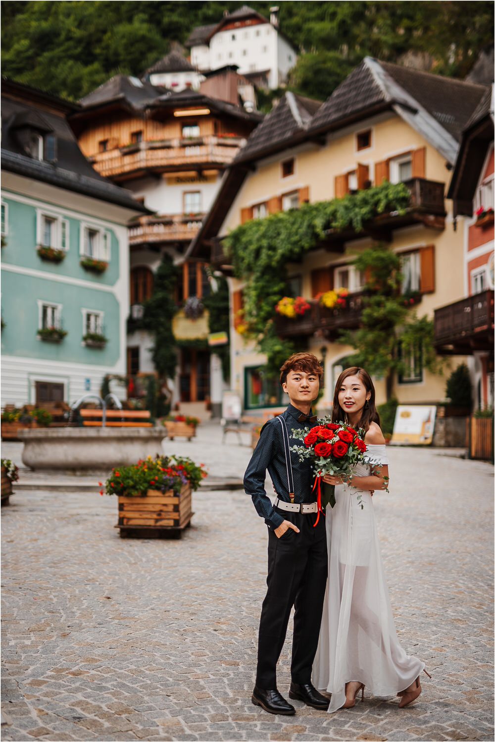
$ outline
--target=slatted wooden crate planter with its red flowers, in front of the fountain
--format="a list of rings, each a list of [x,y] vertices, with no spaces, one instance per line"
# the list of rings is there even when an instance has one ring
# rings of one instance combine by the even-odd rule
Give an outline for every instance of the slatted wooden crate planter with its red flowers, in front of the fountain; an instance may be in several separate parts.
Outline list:
[[[119,499],[120,536],[176,536],[190,525],[192,493],[207,476],[199,466],[181,456],[148,456],[137,464],[116,467],[104,483],[107,495]]]

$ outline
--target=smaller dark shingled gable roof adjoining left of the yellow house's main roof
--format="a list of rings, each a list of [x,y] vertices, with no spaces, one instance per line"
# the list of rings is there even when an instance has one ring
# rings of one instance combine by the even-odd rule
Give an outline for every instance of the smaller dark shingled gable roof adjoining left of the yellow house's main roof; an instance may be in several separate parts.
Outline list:
[[[273,145],[290,140],[294,134],[305,131],[321,102],[304,98],[296,93],[284,93],[276,108],[247,139],[247,145],[239,151],[233,164],[258,157]]]

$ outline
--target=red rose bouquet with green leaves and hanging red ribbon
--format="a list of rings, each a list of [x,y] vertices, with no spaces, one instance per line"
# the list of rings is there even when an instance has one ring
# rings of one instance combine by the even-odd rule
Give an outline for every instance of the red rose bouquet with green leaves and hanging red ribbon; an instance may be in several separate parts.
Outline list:
[[[325,514],[325,508],[330,503],[330,508],[335,505],[335,487],[323,482],[325,474],[341,476],[342,479],[351,482],[352,470],[356,464],[376,463],[366,454],[367,446],[364,438],[365,431],[354,430],[343,422],[333,423],[322,421],[315,427],[305,430],[293,430],[292,436],[303,441],[304,445],[292,446],[290,450],[299,455],[299,459],[310,459],[316,472],[313,491],[317,491],[318,517],[319,513]],[[323,494],[322,494],[323,490]],[[361,496],[358,496],[359,505],[363,509]]]

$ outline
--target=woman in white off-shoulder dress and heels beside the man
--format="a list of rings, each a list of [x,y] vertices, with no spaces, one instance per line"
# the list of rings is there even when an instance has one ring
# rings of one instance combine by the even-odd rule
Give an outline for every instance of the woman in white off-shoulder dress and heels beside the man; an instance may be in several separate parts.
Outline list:
[[[326,510],[328,586],[313,683],[332,694],[329,712],[350,709],[359,691],[364,700],[365,686],[376,696],[401,696],[403,708],[421,693],[425,664],[405,654],[393,623],[371,502],[374,490],[387,487],[388,458],[373,382],[364,369],[340,374],[332,419],[363,428],[368,453],[381,465],[358,464],[350,484],[339,476],[324,478],[336,485],[336,504]]]

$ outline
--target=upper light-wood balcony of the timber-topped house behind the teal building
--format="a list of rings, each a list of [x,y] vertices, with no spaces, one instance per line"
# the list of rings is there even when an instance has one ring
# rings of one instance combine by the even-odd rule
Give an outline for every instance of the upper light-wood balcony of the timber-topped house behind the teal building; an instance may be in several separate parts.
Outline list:
[[[198,137],[139,142],[98,152],[88,159],[100,175],[128,180],[148,172],[164,173],[179,168],[225,168],[245,142],[242,137]]]

